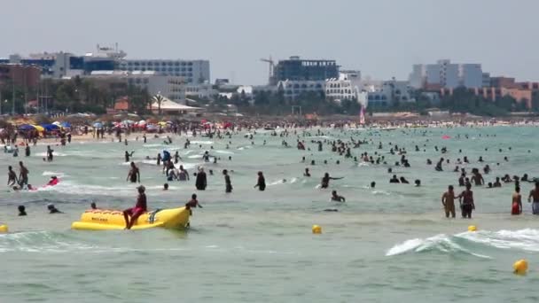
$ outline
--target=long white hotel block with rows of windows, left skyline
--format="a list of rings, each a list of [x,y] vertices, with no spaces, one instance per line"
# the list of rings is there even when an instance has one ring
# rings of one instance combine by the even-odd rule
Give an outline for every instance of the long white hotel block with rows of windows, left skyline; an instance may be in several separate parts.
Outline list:
[[[210,82],[207,60],[122,59],[118,69],[126,72],[153,71],[165,76],[183,77],[189,84]]]

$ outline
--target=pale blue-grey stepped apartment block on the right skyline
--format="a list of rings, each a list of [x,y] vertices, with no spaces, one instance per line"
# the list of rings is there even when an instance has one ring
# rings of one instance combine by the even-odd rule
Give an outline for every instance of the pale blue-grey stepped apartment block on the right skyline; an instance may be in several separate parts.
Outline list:
[[[415,89],[480,88],[484,82],[480,64],[455,64],[449,59],[438,60],[435,64],[413,65],[409,80]]]

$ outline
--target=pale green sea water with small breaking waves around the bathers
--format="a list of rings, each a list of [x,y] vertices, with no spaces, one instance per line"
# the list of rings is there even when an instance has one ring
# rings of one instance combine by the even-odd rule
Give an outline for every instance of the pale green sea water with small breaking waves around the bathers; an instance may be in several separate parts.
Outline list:
[[[135,151],[151,208],[182,206],[195,189],[191,181],[172,182],[170,190],[161,190],[165,177],[154,160],[145,160],[146,155],[177,150],[191,177],[199,165],[214,170],[215,175],[208,175],[207,190],[197,192],[204,208],[195,211],[187,231],[70,229],[92,200],[102,208],[123,209],[135,203],[135,185],[125,182],[129,166],[123,163],[124,144],[108,139],[55,146],[52,163],[43,162],[41,144],[30,158],[0,154],[4,172],[8,165],[17,167],[19,160],[25,161],[34,185],[47,183],[51,175],[61,179],[56,187],[36,192],[10,192],[2,185],[0,222],[9,225],[10,233],[0,235],[0,302],[539,299],[534,287],[539,282],[539,218],[531,214],[527,202],[523,215],[510,215],[512,184],[495,190],[474,187],[473,220],[446,220],[440,202],[449,184],[461,190],[452,170],[455,160],[464,156],[472,162],[465,166],[468,172],[485,164],[492,167],[484,175],[486,182],[504,174],[539,176],[537,128],[324,128],[324,136],[316,136],[316,129],[308,131],[312,137],[303,136],[301,130],[298,136],[312,151],[283,147],[282,140],[295,146],[293,133],[283,138],[263,130],[254,135],[254,145],[244,137],[247,131],[240,131],[231,139],[191,138],[187,150],[185,137],[172,136],[174,144],[164,145],[162,138],[143,144],[132,136],[127,150]],[[444,135],[451,138],[443,140]],[[327,145],[317,151],[311,144],[311,140],[348,141],[350,136],[370,143],[352,149],[354,156],[380,152],[389,165],[358,164]],[[378,149],[380,141],[383,150]],[[391,165],[401,156],[388,152],[389,143],[406,148],[410,168]],[[421,151],[415,151],[415,145]],[[449,152],[441,154],[435,145],[447,146]],[[203,163],[201,154],[206,150],[221,160]],[[303,156],[307,163],[301,163]],[[477,163],[479,156],[486,162]],[[435,163],[441,157],[451,159],[444,172],[426,165],[426,159]],[[309,165],[311,159],[315,166]],[[340,165],[335,164],[337,159]],[[310,178],[303,176],[305,167]],[[410,183],[420,179],[423,185],[392,186],[387,167]],[[234,170],[231,194],[224,193],[220,172],[225,168]],[[264,192],[253,188],[259,170],[268,184]],[[332,181],[330,189],[318,189],[325,172],[344,179]],[[368,187],[371,181],[377,183],[375,190]],[[523,183],[522,188],[527,197],[532,183]],[[338,190],[347,202],[329,202],[331,190]],[[47,203],[66,214],[47,214]],[[27,217],[17,216],[20,204],[27,206]],[[324,212],[326,208],[339,212]],[[313,224],[322,226],[322,235],[311,233]],[[479,231],[467,232],[471,224]],[[512,263],[522,258],[530,264],[527,276],[512,275]]]

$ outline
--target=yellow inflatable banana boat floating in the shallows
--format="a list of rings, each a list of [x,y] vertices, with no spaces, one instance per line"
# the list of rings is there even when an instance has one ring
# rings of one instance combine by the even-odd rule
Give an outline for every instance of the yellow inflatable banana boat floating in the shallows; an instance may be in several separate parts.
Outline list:
[[[189,209],[185,207],[158,209],[141,214],[131,229],[184,229],[189,226]],[[90,209],[81,215],[81,221],[71,224],[72,229],[109,230],[125,229],[123,213],[117,210]]]

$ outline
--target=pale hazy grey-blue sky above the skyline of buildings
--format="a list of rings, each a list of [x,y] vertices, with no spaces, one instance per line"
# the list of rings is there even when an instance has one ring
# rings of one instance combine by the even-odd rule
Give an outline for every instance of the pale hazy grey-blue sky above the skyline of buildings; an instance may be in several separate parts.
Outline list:
[[[334,58],[407,79],[438,58],[539,81],[539,0],[2,0],[0,57],[94,51],[205,58],[212,79],[262,84],[260,58]]]

